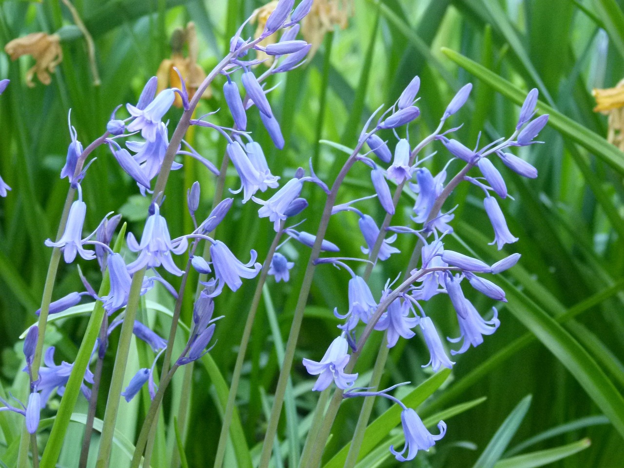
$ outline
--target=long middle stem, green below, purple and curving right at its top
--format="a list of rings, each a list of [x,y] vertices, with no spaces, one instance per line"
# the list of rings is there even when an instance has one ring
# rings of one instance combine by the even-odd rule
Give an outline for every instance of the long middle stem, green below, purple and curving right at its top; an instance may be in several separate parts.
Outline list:
[[[364,135],[368,137],[367,135]],[[303,321],[303,311],[305,310],[306,303],[308,301],[308,295],[310,294],[310,288],[312,286],[312,280],[314,276],[314,261],[321,253],[321,243],[327,231],[327,226],[329,224],[329,218],[331,217],[331,208],[334,206],[334,202],[336,201],[336,195],[338,195],[338,188],[346,177],[347,173],[353,163],[355,162],[355,156],[358,154],[361,149],[365,137],[361,137],[359,139],[358,145],[353,150],[353,154],[346,160],[343,165],[343,168],[338,173],[334,184],[331,187],[331,191],[327,196],[327,200],[325,202],[325,207],[323,209],[323,215],[321,217],[321,222],[318,227],[318,232],[316,233],[316,240],[314,241],[314,245],[312,246],[312,251],[310,253],[310,258],[308,260],[308,266],[306,266],[306,271],[303,276],[303,283],[301,283],[301,289],[299,298],[297,300],[297,305],[295,308],[295,314],[293,316],[293,322],[291,323],[290,333],[288,334],[288,342],[286,343],[286,351],[284,354],[284,363],[281,367],[280,377],[278,378],[277,387],[275,389],[275,399],[273,401],[273,408],[271,409],[271,416],[268,421],[268,427],[266,429],[265,441],[262,446],[262,452],[260,456],[260,464],[259,468],[267,468],[268,464],[271,460],[271,451],[273,449],[273,442],[275,440],[275,434],[277,432],[277,426],[280,419],[281,407],[284,402],[284,395],[286,392],[286,385],[288,384],[288,377],[290,376],[290,369],[293,365],[293,359],[295,358],[295,348],[297,345],[297,339],[299,338],[299,331],[301,329],[301,322]]]

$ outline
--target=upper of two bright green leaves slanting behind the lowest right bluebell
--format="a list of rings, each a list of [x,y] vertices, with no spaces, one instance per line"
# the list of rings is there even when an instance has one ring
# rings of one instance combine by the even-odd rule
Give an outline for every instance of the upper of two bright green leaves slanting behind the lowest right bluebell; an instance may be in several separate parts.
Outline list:
[[[402,399],[403,404],[407,407],[418,407],[446,382],[450,374],[451,369],[443,369],[437,374],[434,374],[409,392],[409,394]],[[364,440],[362,441],[362,447],[359,451],[360,457],[364,457],[366,454],[373,451],[399,422],[401,422],[401,407],[398,405],[391,406],[384,414],[371,422],[366,428],[366,432],[364,432]],[[349,453],[349,447],[351,447],[351,442],[346,444],[346,446],[334,455],[332,459],[325,464],[324,468],[342,467]]]

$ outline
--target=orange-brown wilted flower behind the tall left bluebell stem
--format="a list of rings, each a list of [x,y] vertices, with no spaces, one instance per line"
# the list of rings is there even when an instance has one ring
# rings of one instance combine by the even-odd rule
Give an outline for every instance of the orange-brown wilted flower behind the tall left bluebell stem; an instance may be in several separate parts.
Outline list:
[[[184,45],[187,44],[188,57],[183,56]],[[185,29],[178,28],[173,31],[171,37],[171,59],[165,59],[160,62],[158,72],[156,74],[158,78],[158,92],[167,88],[168,86],[173,88],[182,88],[180,77],[175,72],[173,67],[177,68],[182,78],[186,81],[188,99],[193,99],[195,91],[202,84],[202,81],[206,77],[206,72],[202,67],[197,64],[197,32],[195,32],[195,23],[192,21],[187,24]],[[211,95],[210,88],[208,88],[202,97],[209,98]],[[182,98],[177,93],[175,94],[175,100],[173,105],[176,107],[182,107]]]

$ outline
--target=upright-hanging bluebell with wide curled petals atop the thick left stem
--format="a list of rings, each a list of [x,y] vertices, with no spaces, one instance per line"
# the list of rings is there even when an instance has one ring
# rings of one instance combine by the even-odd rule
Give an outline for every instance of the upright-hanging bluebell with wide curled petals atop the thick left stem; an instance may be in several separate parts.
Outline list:
[[[150,215],[145,222],[141,243],[137,243],[134,235],[128,233],[128,248],[133,252],[140,252],[137,260],[127,266],[128,271],[134,273],[145,266],[155,268],[162,265],[172,275],[181,276],[184,272],[173,263],[171,254],[180,255],[187,250],[188,241],[183,237],[176,246],[173,246],[167,221],[160,215],[158,204],[154,203],[153,206],[154,214]]]

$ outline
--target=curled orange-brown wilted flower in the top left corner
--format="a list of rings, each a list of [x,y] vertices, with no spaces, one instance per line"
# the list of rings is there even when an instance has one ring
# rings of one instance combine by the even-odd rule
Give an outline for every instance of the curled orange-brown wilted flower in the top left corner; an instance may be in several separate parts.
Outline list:
[[[26,72],[26,84],[33,87],[32,77],[37,78],[43,84],[50,84],[51,73],[63,60],[61,49],[61,37],[58,34],[46,34],[45,32],[33,32],[24,37],[18,37],[4,46],[4,51],[11,56],[11,60],[25,55],[31,55],[35,59],[34,66]]]

